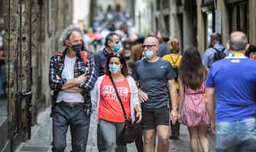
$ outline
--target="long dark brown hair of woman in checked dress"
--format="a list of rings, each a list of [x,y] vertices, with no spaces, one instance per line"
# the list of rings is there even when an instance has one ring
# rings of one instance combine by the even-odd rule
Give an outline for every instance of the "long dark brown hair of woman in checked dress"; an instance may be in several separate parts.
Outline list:
[[[179,76],[185,87],[199,89],[206,79],[207,69],[196,48],[186,49],[180,62]]]

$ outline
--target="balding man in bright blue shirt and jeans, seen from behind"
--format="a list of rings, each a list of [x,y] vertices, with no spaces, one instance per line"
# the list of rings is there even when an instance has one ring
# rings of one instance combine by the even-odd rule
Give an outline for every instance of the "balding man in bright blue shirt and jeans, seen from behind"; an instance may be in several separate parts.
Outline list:
[[[255,151],[256,61],[244,55],[249,47],[245,33],[231,33],[226,46],[228,57],[212,64],[206,81],[216,151]]]

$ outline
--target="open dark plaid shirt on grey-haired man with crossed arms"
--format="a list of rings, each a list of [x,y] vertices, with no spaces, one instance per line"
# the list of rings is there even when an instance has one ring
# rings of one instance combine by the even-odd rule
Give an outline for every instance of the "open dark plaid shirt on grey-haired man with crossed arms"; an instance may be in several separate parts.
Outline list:
[[[53,103],[56,102],[61,87],[63,86],[63,84],[66,83],[66,79],[61,78],[61,73],[64,68],[65,56],[66,49],[64,52],[58,52],[57,54],[53,55],[50,59],[49,84],[50,89],[53,90]],[[85,103],[91,103],[89,91],[93,89],[97,79],[94,66],[95,65],[92,55],[87,55],[86,65],[84,64],[81,55],[76,55],[74,78],[78,78],[79,75],[86,73],[86,81],[77,86],[83,89],[81,94],[83,95],[83,97],[85,97]],[[60,79],[57,79],[57,75],[60,77]]]

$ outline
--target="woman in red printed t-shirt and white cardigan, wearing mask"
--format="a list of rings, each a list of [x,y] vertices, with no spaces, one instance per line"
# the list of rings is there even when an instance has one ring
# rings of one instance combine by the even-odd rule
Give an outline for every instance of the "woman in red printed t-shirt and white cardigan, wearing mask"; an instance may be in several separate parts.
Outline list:
[[[128,119],[136,123],[141,122],[141,103],[138,100],[138,90],[133,78],[128,76],[125,58],[119,53],[111,53],[106,59],[105,75],[98,78],[92,90],[92,103],[96,105],[96,112],[101,128],[105,151],[126,151],[126,146],[119,144],[117,137],[125,127],[125,108]],[[112,82],[112,80],[113,82]],[[115,92],[115,87],[118,92]],[[118,93],[118,95],[117,95]],[[118,100],[118,96],[121,101]],[[136,112],[136,115],[135,115]]]

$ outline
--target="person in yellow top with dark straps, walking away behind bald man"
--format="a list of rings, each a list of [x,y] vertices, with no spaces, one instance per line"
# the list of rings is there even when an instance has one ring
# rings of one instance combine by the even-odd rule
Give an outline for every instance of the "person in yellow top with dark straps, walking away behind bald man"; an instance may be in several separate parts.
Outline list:
[[[168,41],[167,43],[168,49],[170,51],[169,54],[164,55],[163,59],[167,60],[170,62],[170,65],[173,66],[173,71],[175,72],[175,87],[177,91],[179,91],[179,84],[177,81],[178,78],[178,69],[180,66],[180,61],[182,59],[182,55],[179,54],[180,52],[180,42],[177,39],[172,39]],[[159,51],[159,50],[158,50]],[[177,121],[174,125],[170,123],[170,139],[177,140],[179,135],[180,135],[180,122]]]

